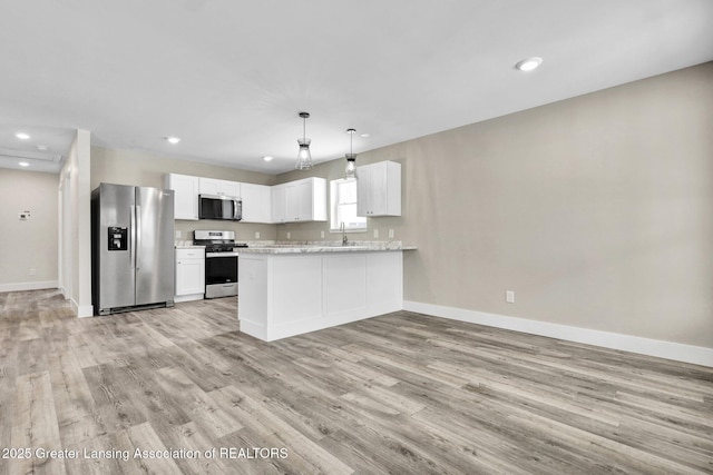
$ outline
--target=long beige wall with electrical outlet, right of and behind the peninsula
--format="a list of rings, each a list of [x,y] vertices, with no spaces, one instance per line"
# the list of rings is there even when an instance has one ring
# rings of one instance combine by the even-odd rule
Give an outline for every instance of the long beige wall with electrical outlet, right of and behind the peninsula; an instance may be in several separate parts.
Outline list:
[[[711,85],[705,63],[361,154],[402,164],[403,216],[352,237],[419,246],[407,300],[713,347]]]

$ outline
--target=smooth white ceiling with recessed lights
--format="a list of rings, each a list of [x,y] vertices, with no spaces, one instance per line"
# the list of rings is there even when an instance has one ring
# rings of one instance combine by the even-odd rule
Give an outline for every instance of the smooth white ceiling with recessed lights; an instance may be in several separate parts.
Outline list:
[[[712,24],[711,0],[7,1],[0,166],[39,152],[28,168],[47,168],[82,128],[277,174],[300,111],[332,160],[350,127],[360,152],[711,61]],[[538,70],[514,68],[530,56]]]

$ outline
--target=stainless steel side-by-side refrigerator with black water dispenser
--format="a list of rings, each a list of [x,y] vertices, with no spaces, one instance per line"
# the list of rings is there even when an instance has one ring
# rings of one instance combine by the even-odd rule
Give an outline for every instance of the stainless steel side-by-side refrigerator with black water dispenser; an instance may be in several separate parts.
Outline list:
[[[91,192],[95,315],[174,305],[174,192],[101,184]]]

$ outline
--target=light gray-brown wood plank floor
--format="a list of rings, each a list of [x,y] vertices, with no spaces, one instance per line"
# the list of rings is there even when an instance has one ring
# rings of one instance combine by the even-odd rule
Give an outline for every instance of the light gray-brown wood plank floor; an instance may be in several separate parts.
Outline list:
[[[266,344],[235,314],[0,294],[0,474],[713,473],[713,368],[406,311]]]

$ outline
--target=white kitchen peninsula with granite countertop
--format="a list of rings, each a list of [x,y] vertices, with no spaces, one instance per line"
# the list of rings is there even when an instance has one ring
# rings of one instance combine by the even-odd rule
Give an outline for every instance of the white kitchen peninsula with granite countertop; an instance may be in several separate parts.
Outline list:
[[[240,253],[241,331],[272,342],[400,310],[400,241],[250,247]]]

